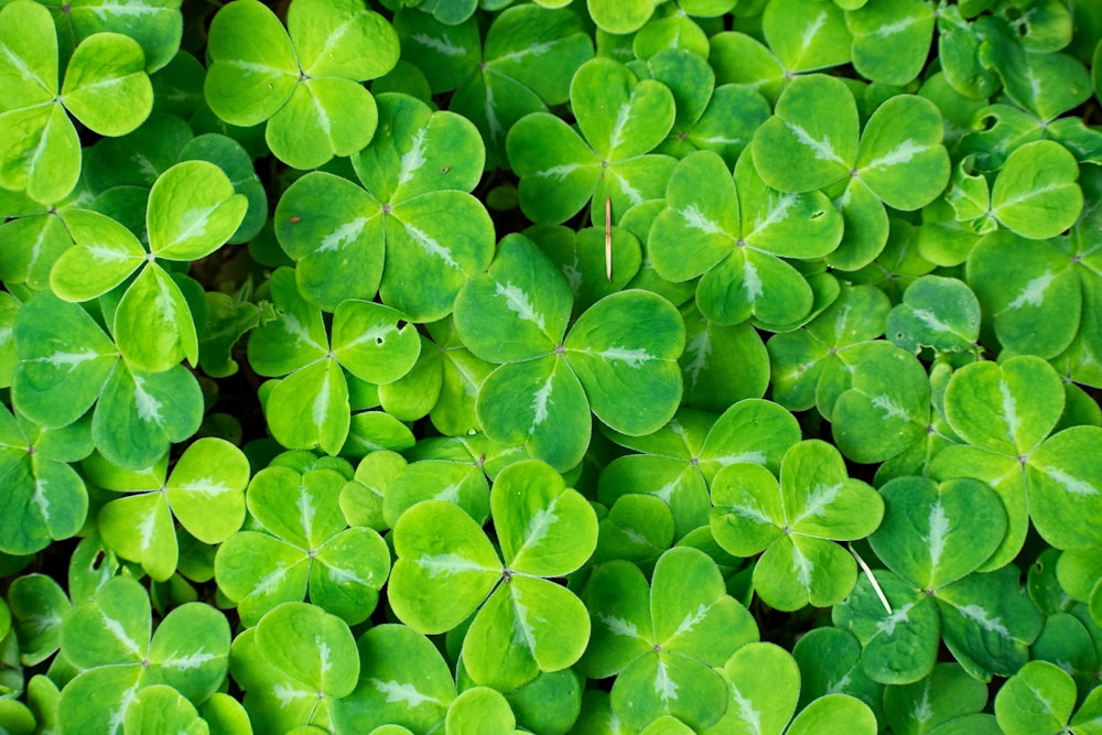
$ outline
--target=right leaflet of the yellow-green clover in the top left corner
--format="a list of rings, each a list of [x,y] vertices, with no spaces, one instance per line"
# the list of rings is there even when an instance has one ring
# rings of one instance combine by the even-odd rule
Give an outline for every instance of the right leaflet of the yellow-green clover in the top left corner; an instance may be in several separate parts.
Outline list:
[[[96,33],[77,45],[65,68],[61,101],[101,136],[125,136],[153,109],[145,54],[119,33]]]

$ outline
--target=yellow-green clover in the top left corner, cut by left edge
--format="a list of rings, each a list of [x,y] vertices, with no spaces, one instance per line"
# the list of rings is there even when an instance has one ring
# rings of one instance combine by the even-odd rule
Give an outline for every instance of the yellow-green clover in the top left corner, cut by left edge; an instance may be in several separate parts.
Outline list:
[[[20,0],[2,10],[0,33],[0,185],[54,204],[80,176],[75,117],[102,136],[130,132],[149,115],[153,89],[133,39],[84,39],[58,79],[57,31],[45,7]]]

